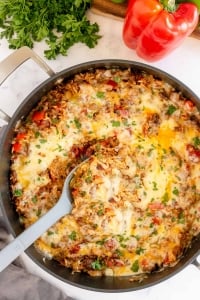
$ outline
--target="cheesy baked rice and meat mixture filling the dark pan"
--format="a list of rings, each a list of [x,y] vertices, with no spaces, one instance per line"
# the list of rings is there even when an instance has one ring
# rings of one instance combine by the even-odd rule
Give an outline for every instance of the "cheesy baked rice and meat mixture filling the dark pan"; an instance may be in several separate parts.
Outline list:
[[[140,275],[175,265],[200,233],[200,114],[169,83],[131,69],[63,80],[20,120],[11,192],[28,227],[58,200],[73,209],[35,247],[72,272]],[[139,277],[140,278],[140,277]]]

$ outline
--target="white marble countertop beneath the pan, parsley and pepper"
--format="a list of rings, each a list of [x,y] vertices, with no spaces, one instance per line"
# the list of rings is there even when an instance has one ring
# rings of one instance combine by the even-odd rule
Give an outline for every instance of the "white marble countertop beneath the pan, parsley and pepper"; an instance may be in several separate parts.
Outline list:
[[[89,18],[100,25],[101,40],[94,49],[88,49],[85,45],[77,44],[72,47],[67,57],[59,56],[54,61],[47,61],[49,66],[59,72],[72,65],[105,58],[120,58],[141,61],[134,51],[125,47],[121,38],[122,22],[111,20],[106,17],[94,15],[89,12]],[[44,43],[35,45],[35,52],[43,57]],[[0,61],[11,54],[13,50],[8,49],[7,42],[0,40]],[[181,47],[163,60],[151,65],[160,68],[189,86],[200,96],[200,40],[187,38]],[[2,86],[0,86],[0,108],[10,116],[30,93],[48,76],[32,61],[27,61],[18,68]],[[3,124],[2,122],[0,125]],[[189,265],[176,276],[144,290],[123,293],[97,293],[79,289],[55,279],[34,264],[25,254],[22,255],[27,269],[42,278],[45,278],[55,286],[58,286],[67,295],[79,300],[100,300],[102,297],[108,300],[137,299],[137,300],[193,300],[200,299],[199,283],[200,271],[193,265]],[[12,287],[11,287],[12,288]]]

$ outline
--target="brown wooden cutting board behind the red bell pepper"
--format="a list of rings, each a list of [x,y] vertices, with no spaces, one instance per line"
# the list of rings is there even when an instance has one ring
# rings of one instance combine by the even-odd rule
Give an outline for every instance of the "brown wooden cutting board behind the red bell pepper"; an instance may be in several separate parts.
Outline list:
[[[127,3],[128,1],[122,4],[116,4],[111,0],[92,0],[91,9],[96,14],[123,20],[126,14]],[[194,30],[191,36],[200,39],[200,25]]]

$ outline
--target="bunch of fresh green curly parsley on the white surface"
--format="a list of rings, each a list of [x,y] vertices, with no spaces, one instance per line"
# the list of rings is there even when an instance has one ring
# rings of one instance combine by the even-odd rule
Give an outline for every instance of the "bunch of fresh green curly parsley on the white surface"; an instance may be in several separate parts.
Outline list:
[[[90,5],[91,0],[0,0],[0,38],[12,49],[33,48],[44,39],[48,59],[67,55],[78,42],[93,48],[100,36],[98,24],[86,17]]]

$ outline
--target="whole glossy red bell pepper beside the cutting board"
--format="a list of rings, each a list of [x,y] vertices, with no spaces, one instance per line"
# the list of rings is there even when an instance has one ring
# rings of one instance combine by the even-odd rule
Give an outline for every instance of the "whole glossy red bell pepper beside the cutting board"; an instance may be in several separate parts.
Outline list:
[[[194,3],[130,0],[123,26],[125,44],[138,56],[156,61],[177,48],[198,24],[199,13]],[[166,4],[166,3],[165,3]]]

